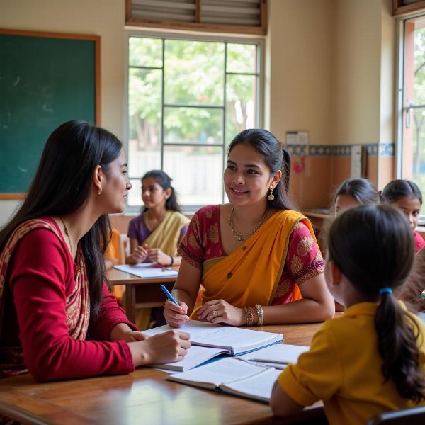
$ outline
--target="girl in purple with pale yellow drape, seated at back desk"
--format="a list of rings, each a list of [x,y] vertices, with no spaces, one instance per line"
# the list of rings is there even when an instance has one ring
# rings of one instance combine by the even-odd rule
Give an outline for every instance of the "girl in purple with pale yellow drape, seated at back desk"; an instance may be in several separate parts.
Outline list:
[[[161,170],[148,171],[142,177],[145,208],[128,228],[131,255],[127,263],[152,261],[163,266],[178,266],[177,248],[188,229],[188,218],[180,212],[171,179]]]

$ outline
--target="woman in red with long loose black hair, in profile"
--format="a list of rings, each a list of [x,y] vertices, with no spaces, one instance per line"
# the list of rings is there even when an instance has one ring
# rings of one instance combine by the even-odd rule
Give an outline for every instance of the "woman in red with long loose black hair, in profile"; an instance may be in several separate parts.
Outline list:
[[[117,375],[185,356],[188,334],[140,334],[106,286],[108,213],[125,208],[126,172],[121,142],[102,128],[74,120],[48,138],[0,231],[0,376]]]

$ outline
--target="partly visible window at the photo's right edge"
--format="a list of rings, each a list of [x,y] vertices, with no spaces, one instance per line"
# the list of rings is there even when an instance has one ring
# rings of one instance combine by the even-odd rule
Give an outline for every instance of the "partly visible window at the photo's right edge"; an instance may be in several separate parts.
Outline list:
[[[425,194],[425,16],[400,24],[397,175]],[[421,216],[425,215],[422,205]]]

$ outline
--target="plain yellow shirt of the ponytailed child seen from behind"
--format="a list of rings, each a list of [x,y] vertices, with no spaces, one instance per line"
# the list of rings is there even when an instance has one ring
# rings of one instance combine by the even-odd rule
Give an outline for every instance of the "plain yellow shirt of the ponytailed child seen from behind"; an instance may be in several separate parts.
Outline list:
[[[325,322],[310,351],[278,378],[298,404],[308,406],[322,399],[331,425],[365,424],[375,414],[415,406],[399,395],[392,380],[383,383],[374,324],[377,308],[373,302],[361,302]],[[419,325],[419,361],[425,370],[425,326],[413,314],[412,318]]]

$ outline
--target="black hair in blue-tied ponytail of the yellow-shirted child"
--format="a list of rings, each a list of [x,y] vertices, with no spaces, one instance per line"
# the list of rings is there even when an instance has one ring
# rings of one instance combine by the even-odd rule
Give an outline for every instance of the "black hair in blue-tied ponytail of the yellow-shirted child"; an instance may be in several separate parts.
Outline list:
[[[389,205],[351,208],[331,225],[328,251],[329,261],[358,291],[379,300],[375,329],[385,382],[392,379],[402,397],[421,402],[425,376],[416,345],[419,327],[391,293],[407,279],[414,261],[414,240],[406,219]]]

